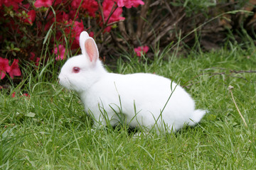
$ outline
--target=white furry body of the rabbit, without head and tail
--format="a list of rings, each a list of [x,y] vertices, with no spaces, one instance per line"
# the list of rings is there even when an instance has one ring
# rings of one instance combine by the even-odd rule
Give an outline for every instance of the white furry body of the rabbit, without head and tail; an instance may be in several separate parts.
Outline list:
[[[161,112],[164,123],[180,127],[194,111],[193,99],[181,86],[155,74],[108,74],[88,93],[87,96],[94,96],[85,99],[85,107],[90,111],[99,112],[100,104],[110,118],[118,119],[116,113],[122,110],[127,123],[134,127],[138,123],[154,125]]]

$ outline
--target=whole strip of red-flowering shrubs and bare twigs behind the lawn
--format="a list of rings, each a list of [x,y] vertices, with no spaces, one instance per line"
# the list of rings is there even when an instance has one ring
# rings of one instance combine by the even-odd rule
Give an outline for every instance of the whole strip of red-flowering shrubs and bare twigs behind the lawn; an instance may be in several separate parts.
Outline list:
[[[145,54],[149,50],[147,57],[153,57],[155,50],[172,42],[178,42],[172,49],[184,52],[197,47],[219,49],[230,40],[242,42],[245,36],[254,40],[254,4],[212,0],[2,1],[1,84],[14,77],[21,81],[18,64],[36,70],[52,59],[75,55],[82,30],[95,38],[100,56],[107,62],[112,61],[110,56],[116,60],[119,52],[140,55],[138,51]],[[11,63],[13,69],[9,68]]]

